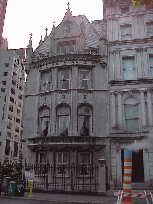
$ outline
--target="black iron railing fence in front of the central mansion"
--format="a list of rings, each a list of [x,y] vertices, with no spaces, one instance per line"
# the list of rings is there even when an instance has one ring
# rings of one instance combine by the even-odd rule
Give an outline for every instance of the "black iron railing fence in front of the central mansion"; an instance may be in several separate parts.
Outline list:
[[[34,181],[34,189],[49,191],[98,192],[99,166],[52,164],[0,164],[1,179]]]

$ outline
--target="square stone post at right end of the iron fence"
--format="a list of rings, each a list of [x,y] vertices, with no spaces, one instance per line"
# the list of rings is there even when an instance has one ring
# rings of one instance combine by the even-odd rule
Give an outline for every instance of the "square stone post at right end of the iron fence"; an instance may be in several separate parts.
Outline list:
[[[98,159],[98,162],[99,162],[98,194],[106,195],[106,160]]]

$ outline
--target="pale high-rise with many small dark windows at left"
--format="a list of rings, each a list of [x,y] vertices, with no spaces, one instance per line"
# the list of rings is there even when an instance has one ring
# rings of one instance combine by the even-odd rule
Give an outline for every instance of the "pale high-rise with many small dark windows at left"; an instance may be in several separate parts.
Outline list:
[[[0,162],[19,161],[23,133],[24,61],[14,50],[0,50]]]

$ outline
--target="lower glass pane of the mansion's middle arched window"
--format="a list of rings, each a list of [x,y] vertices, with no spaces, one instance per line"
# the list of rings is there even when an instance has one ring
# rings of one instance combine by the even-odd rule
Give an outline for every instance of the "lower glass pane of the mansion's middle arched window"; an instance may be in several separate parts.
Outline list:
[[[68,136],[69,116],[59,117],[59,134],[61,136]]]

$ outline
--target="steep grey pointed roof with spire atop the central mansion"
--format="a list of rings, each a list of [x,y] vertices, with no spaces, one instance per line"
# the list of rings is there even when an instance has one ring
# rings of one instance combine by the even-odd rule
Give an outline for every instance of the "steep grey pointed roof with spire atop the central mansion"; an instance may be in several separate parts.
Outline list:
[[[72,36],[80,36],[81,32],[83,32],[85,48],[97,48],[99,46],[99,38],[101,37],[100,33],[102,32],[103,28],[102,24],[98,21],[97,23],[90,23],[85,15],[72,16],[72,12],[70,11],[69,7],[69,2],[67,5],[68,8],[62,22],[57,27],[53,27],[50,35],[45,37],[44,41],[41,42],[41,44],[36,48],[33,54],[45,54],[47,52],[50,52],[52,39],[56,40],[63,38],[63,33],[60,32],[60,29],[66,22],[72,22],[73,24],[75,32],[72,33]]]

